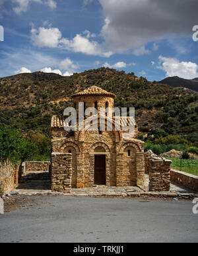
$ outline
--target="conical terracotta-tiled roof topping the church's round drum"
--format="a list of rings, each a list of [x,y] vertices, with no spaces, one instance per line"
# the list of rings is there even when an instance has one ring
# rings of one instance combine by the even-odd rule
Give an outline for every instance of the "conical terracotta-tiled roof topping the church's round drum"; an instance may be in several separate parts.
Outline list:
[[[71,97],[76,97],[76,96],[89,96],[89,95],[104,95],[104,96],[110,96],[110,97],[116,97],[115,94],[112,94],[111,92],[107,92],[106,90],[103,90],[102,88],[98,86],[91,86],[89,88],[86,88],[82,92],[77,92],[77,94],[73,94]]]

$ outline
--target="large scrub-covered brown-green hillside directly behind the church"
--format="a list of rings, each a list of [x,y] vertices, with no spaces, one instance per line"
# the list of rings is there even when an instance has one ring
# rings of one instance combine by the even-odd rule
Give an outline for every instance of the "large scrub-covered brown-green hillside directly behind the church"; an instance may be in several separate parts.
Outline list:
[[[1,78],[0,126],[19,127],[24,133],[40,130],[49,135],[51,115],[62,114],[71,106],[72,94],[92,85],[116,94],[116,106],[135,107],[143,134],[197,132],[197,95],[110,68],[69,77],[35,72]]]

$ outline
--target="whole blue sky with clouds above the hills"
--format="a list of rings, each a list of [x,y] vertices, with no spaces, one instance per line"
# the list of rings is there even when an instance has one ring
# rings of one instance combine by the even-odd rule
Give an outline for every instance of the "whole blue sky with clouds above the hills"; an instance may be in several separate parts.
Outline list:
[[[197,78],[197,9],[197,0],[0,0],[0,77],[104,66],[150,81]]]

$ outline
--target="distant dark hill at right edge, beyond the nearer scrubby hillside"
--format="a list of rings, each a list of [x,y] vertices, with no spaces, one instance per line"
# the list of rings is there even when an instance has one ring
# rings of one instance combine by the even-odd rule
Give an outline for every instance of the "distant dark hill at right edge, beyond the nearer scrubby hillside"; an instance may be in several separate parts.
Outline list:
[[[193,80],[187,80],[183,78],[179,78],[178,76],[173,76],[170,78],[165,78],[164,80],[159,82],[160,84],[168,84],[174,88],[184,87],[190,90],[198,92],[198,78]]]

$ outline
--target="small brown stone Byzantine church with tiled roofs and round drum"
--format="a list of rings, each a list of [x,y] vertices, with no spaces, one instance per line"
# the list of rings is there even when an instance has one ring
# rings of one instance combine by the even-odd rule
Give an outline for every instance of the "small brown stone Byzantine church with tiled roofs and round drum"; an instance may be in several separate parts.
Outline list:
[[[87,88],[72,96],[73,106],[79,109],[79,102],[87,107],[114,109],[115,94],[97,86]],[[84,122],[88,116],[84,117]],[[108,121],[108,117],[104,117]],[[129,121],[130,117],[127,117]],[[96,185],[137,186],[144,184],[145,154],[144,143],[124,137],[117,131],[113,115],[112,131],[65,131],[65,116],[53,115],[51,119],[51,189],[69,192],[71,188],[85,188]],[[99,122],[99,121],[98,121]],[[135,121],[134,121],[135,122]],[[108,126],[106,122],[106,127]],[[135,135],[137,125],[135,124]]]

